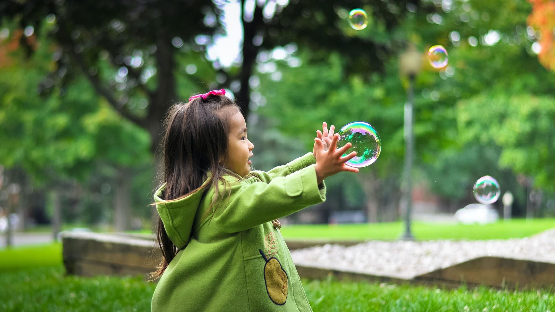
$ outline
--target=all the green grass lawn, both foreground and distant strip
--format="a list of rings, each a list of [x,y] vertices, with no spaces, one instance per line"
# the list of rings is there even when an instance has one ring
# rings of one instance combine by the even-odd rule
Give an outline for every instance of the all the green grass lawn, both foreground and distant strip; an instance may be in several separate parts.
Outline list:
[[[419,239],[523,237],[552,228],[553,219],[490,225],[415,223]],[[401,223],[296,225],[286,237],[396,239]],[[303,280],[314,311],[555,311],[551,290],[508,291],[486,287],[456,290],[355,281]],[[149,311],[155,283],[142,276],[85,278],[65,275],[58,243],[0,250],[0,311]]]

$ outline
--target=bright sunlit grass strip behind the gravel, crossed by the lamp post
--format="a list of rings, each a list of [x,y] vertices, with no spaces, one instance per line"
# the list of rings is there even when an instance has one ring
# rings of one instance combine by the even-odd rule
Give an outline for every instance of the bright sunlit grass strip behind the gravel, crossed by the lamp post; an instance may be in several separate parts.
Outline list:
[[[508,222],[485,225],[446,223],[412,224],[412,234],[417,240],[432,239],[507,239],[523,238],[555,228],[555,219],[513,219]],[[330,240],[395,240],[403,233],[402,222],[339,224],[339,225],[284,225],[281,234],[287,239]]]

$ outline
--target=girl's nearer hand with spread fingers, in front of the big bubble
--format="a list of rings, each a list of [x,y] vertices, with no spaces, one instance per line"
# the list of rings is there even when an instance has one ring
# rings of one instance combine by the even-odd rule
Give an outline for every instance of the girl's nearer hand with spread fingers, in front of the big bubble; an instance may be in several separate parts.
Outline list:
[[[345,157],[342,155],[351,148],[352,144],[349,142],[337,148],[337,141],[339,140],[339,134],[332,135],[332,139],[328,148],[324,147],[324,139],[315,138],[314,139],[314,153],[316,157],[316,179],[318,184],[320,184],[325,178],[331,177],[334,174],[347,171],[347,172],[359,172],[359,168],[350,167],[345,163],[351,158],[356,156],[356,152],[352,152]]]

